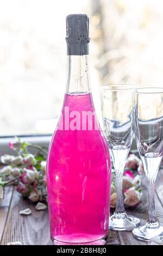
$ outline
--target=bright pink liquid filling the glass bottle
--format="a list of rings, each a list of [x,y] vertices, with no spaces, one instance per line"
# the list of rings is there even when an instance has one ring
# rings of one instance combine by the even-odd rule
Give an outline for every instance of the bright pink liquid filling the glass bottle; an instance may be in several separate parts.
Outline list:
[[[100,244],[108,235],[111,164],[101,129],[65,130],[69,112],[95,111],[91,94],[65,95],[64,129],[54,132],[47,161],[48,206],[55,244]],[[70,122],[73,118],[70,118]],[[61,127],[62,118],[58,126]],[[92,126],[97,124],[96,115]],[[102,244],[102,243],[101,243]]]

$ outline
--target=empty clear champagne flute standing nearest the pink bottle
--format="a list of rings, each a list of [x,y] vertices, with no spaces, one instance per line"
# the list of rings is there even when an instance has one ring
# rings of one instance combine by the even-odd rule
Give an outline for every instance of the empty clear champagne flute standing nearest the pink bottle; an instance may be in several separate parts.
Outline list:
[[[133,140],[134,89],[129,85],[101,87],[104,134],[116,174],[117,204],[109,220],[109,228],[114,230],[133,230],[140,223],[139,218],[126,214],[122,194],[123,171]]]

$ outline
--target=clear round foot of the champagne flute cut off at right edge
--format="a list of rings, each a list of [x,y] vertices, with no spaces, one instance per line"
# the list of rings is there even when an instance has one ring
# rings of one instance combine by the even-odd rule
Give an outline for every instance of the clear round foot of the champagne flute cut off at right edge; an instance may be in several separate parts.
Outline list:
[[[160,239],[163,239],[163,227],[158,222],[146,223],[139,228],[135,228],[133,230],[133,236],[143,241],[148,241],[154,236],[159,236]]]

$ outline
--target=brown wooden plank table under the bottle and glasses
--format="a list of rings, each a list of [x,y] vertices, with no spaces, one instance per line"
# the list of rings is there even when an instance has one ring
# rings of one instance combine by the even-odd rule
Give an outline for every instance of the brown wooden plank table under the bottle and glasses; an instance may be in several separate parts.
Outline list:
[[[141,219],[141,224],[147,220],[147,182],[143,177],[144,187],[142,203],[136,209],[127,210],[128,214]],[[163,198],[159,197],[159,186],[163,185],[163,170],[159,170],[156,180],[155,208],[158,221],[163,225]],[[29,216],[19,215],[19,211],[30,208]],[[35,204],[23,199],[16,187],[5,188],[4,199],[0,199],[0,244],[7,245],[11,241],[20,241],[23,245],[52,245],[49,238],[48,210],[36,211]],[[136,240],[130,231],[109,231],[107,245],[147,245]]]

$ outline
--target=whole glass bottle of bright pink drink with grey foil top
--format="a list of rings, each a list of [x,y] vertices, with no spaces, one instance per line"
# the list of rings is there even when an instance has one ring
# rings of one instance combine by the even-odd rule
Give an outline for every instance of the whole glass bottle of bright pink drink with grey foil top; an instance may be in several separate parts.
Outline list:
[[[111,163],[89,80],[89,18],[66,17],[67,87],[49,145],[47,189],[55,245],[102,245],[108,235]]]

